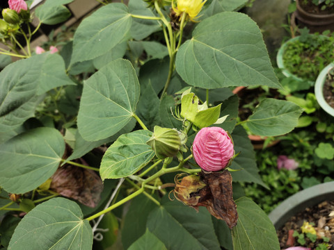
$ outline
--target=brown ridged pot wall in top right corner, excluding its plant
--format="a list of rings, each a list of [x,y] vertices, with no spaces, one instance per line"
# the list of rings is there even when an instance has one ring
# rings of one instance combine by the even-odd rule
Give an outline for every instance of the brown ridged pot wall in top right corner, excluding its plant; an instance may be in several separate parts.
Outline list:
[[[299,4],[300,0],[296,0],[296,22],[299,28],[308,27],[311,33],[330,30],[334,31],[334,14],[314,14],[306,12]]]

